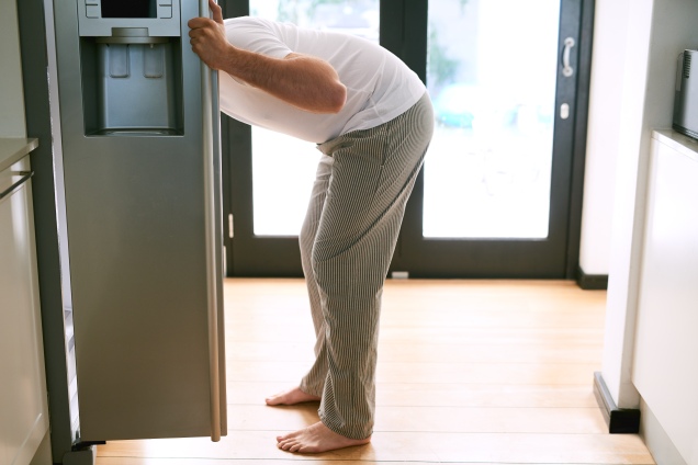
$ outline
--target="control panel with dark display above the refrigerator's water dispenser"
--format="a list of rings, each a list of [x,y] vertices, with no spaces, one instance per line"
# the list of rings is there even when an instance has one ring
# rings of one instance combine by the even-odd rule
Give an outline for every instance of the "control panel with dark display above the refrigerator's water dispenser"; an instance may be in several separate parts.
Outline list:
[[[146,29],[150,37],[177,37],[181,0],[79,0],[78,25],[83,37],[108,37],[114,29]]]

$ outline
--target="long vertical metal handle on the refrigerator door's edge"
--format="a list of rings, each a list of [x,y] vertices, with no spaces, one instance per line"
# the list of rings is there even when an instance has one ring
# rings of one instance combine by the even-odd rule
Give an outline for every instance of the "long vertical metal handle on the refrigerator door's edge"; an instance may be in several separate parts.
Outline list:
[[[200,14],[210,16],[207,0],[201,0]],[[217,73],[212,71],[203,61],[201,63],[201,88],[203,103],[203,161],[204,161],[204,189],[205,189],[205,222],[206,222],[206,282],[207,282],[207,317],[209,317],[209,372],[211,389],[211,441],[221,441],[221,379],[219,379],[219,353],[218,353],[218,271],[217,271],[217,219],[216,219],[216,173],[215,154],[219,128],[214,122],[214,99],[217,99]],[[215,87],[215,94],[214,94]]]

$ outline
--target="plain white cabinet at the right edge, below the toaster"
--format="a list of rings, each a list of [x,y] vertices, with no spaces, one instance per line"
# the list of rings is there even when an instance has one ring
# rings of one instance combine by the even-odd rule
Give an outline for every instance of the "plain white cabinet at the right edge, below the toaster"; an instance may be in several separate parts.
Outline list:
[[[698,143],[652,139],[633,383],[688,465],[698,465]]]

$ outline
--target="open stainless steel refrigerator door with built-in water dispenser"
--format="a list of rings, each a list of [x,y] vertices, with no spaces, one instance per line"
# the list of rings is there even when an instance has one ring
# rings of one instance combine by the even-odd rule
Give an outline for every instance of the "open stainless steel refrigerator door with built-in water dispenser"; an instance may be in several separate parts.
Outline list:
[[[173,127],[131,131],[94,126],[104,46],[78,35],[78,1],[55,1],[54,12],[79,440],[217,440],[226,434],[217,92],[187,36],[202,4],[181,1],[181,37],[167,42]],[[136,52],[137,75],[151,67]]]

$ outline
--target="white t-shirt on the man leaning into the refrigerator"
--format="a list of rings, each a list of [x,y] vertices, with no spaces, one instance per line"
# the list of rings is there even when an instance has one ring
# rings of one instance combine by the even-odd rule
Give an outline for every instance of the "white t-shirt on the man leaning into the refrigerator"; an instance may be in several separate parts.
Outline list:
[[[249,16],[225,20],[225,29],[228,41],[239,48],[274,58],[291,53],[322,58],[347,87],[347,102],[339,113],[316,114],[221,72],[221,110],[244,123],[322,144],[393,120],[426,91],[396,56],[361,37]]]

